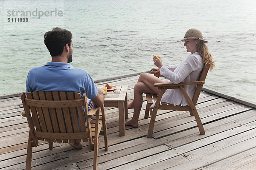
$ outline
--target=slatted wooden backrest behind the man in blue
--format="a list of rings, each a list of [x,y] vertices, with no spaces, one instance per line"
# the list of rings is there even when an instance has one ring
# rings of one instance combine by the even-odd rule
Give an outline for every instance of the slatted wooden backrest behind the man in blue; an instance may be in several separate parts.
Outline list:
[[[49,142],[88,141],[88,106],[79,93],[36,91],[21,95],[32,137]],[[29,111],[31,110],[31,113]],[[89,123],[89,122],[87,122]],[[88,133],[89,131],[89,133]]]

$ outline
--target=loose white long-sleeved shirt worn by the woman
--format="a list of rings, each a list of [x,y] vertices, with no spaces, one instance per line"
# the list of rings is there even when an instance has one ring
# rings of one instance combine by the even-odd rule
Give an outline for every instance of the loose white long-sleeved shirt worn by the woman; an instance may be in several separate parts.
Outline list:
[[[168,78],[172,83],[197,81],[202,71],[204,62],[198,52],[190,54],[183,62],[178,65],[162,66],[160,74]],[[169,81],[168,81],[169,82]],[[194,96],[196,85],[185,85],[184,90],[190,99]],[[167,89],[161,99],[173,105],[189,105],[186,98],[179,89]],[[151,105],[154,107],[155,102]]]

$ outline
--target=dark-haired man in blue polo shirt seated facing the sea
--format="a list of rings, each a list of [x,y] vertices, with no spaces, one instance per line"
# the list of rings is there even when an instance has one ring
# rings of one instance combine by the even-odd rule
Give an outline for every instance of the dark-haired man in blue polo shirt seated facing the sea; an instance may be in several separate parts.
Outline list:
[[[41,67],[32,68],[26,80],[26,92],[33,91],[73,91],[79,92],[81,97],[86,93],[88,108],[94,105],[101,107],[105,99],[105,91],[97,89],[93,79],[87,71],[73,68],[72,34],[62,28],[53,28],[44,34],[44,44],[47,46],[52,62]],[[93,102],[91,102],[90,101]],[[82,144],[75,142],[74,147],[80,149]]]

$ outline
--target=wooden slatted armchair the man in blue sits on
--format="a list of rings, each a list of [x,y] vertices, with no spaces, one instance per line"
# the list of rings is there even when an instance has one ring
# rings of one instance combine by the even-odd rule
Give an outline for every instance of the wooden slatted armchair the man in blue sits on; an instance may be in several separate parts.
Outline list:
[[[26,96],[22,93],[21,100],[29,124],[26,170],[31,169],[32,147],[38,146],[38,140],[49,142],[49,149],[52,149],[53,142],[73,143],[81,139],[83,142],[89,139],[90,147],[94,147],[93,169],[97,169],[100,134],[104,135],[105,151],[108,150],[104,105],[101,114],[99,107],[88,112],[86,94],[81,99],[79,93],[64,91],[37,91]]]

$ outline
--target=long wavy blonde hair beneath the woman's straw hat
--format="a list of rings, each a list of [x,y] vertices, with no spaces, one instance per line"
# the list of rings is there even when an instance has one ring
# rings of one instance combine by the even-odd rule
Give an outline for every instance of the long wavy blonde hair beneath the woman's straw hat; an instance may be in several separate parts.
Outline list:
[[[212,69],[215,66],[215,62],[212,59],[212,54],[209,53],[207,45],[205,45],[205,43],[201,40],[199,40],[198,44],[197,44],[197,49],[198,49],[198,53],[201,55],[201,57],[203,58],[204,63],[209,63],[210,64],[210,71],[212,71]]]

